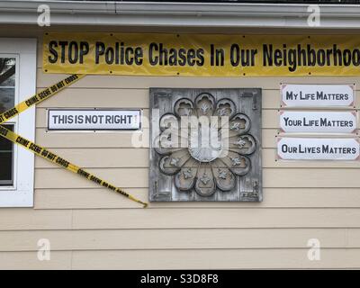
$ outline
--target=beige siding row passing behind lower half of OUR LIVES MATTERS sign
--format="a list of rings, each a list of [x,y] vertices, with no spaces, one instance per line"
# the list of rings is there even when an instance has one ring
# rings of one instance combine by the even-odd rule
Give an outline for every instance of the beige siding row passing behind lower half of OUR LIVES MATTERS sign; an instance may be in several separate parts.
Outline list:
[[[53,152],[84,168],[148,167],[148,148],[53,148]],[[275,148],[262,149],[264,168],[359,168],[359,161],[285,161],[276,160]],[[36,157],[37,169],[61,169]]]

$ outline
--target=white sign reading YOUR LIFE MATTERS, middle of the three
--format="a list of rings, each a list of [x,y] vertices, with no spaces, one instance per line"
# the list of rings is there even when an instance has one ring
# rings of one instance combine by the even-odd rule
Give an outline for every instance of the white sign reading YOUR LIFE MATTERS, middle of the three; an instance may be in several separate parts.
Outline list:
[[[280,112],[280,129],[289,133],[354,133],[356,112]]]

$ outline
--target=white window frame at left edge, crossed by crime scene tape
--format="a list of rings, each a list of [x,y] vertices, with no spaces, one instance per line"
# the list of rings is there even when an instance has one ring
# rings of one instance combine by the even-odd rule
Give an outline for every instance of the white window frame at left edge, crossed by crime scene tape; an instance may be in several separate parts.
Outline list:
[[[15,104],[36,93],[36,46],[32,38],[0,38],[0,57],[16,58]],[[26,139],[35,139],[35,107],[7,123]],[[1,165],[1,163],[0,163]],[[34,154],[14,145],[14,185],[0,186],[0,207],[33,207]]]

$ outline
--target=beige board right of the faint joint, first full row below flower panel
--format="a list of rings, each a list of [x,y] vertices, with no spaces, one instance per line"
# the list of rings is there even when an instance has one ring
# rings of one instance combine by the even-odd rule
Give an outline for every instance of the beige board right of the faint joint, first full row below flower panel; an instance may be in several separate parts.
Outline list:
[[[359,209],[74,210],[73,229],[359,228]]]

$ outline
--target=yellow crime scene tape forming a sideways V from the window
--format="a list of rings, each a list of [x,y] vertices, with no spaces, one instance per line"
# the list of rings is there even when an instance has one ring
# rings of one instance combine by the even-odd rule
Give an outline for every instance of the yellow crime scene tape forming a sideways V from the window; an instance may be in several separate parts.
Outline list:
[[[68,76],[66,79],[59,81],[55,85],[51,85],[48,88],[42,90],[40,93],[34,94],[29,99],[23,101],[22,103],[19,103],[18,105],[14,106],[13,108],[7,110],[4,113],[0,114],[0,124],[4,123],[5,121],[8,121],[21,112],[24,112],[26,109],[30,108],[31,106],[40,103],[46,99],[49,99],[54,94],[57,94],[59,91],[63,90],[65,87],[72,85],[80,78],[84,77],[85,75],[72,75]],[[112,190],[112,192],[120,193],[121,195],[129,198],[130,200],[134,202],[138,202],[146,208],[148,206],[147,202],[142,202],[139,199],[135,198],[134,196],[130,195],[129,193],[124,192],[121,188],[116,187],[115,185],[112,185],[103,179],[92,175],[91,173],[85,171],[84,169],[80,168],[79,166],[76,166],[72,164],[70,161],[67,161],[63,157],[59,157],[55,153],[49,151],[47,148],[42,148],[40,145],[37,145],[33,143],[29,139],[25,139],[22,136],[14,133],[12,130],[6,129],[4,126],[0,125],[0,136],[4,137],[5,139],[8,139],[12,141],[14,144],[20,145],[23,148],[28,149],[35,155],[42,157],[46,160],[48,160],[51,163],[57,164],[58,166],[64,167],[67,169],[67,171],[73,172],[77,175],[83,176],[89,181],[94,182],[95,184],[99,184],[105,188],[108,188]]]

